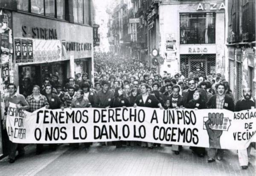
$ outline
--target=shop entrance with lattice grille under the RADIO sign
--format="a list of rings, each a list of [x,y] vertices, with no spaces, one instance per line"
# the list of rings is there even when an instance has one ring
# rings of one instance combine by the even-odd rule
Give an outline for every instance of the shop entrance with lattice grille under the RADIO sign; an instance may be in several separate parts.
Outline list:
[[[216,55],[180,55],[180,71],[187,78],[189,72],[195,76],[215,74]]]

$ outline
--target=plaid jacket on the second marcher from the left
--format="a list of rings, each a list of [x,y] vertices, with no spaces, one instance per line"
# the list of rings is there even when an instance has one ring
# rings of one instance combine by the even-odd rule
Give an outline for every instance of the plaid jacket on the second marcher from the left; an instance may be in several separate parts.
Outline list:
[[[29,103],[29,112],[31,113],[34,112],[35,110],[40,109],[41,107],[48,105],[47,98],[42,94],[39,95],[38,100],[35,100],[35,98],[33,97],[33,94],[29,95],[26,98],[26,101]]]

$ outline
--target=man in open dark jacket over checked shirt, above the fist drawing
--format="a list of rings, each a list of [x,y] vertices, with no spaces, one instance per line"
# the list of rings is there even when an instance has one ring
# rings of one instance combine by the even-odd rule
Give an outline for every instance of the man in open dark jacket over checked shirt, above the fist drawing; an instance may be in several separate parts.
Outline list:
[[[206,103],[208,109],[226,109],[230,111],[234,111],[234,102],[233,99],[225,95],[225,87],[224,84],[219,83],[216,85],[216,95],[212,95],[209,101]],[[217,154],[217,155],[216,155]],[[208,162],[214,162],[215,157],[218,160],[222,160],[223,157],[223,149],[209,148],[207,159]]]

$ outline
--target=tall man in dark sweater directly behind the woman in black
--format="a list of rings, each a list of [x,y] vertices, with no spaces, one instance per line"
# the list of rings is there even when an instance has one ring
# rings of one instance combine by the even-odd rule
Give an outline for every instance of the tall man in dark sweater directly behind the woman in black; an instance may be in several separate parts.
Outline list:
[[[202,100],[204,102],[207,102],[208,98],[207,98],[206,91],[204,89],[200,89],[200,88],[195,87],[195,79],[194,78],[190,78],[188,84],[189,84],[189,89],[183,90],[183,92],[182,92],[182,96],[184,97],[185,107],[188,104],[188,102],[193,99],[193,95],[194,95],[196,90],[201,92]]]

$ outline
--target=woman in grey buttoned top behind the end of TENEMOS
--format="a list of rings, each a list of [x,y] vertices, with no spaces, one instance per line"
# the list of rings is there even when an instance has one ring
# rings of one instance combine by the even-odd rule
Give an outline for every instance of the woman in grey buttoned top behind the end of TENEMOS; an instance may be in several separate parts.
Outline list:
[[[72,99],[70,109],[72,108],[83,108],[83,107],[92,107],[88,99],[84,99],[84,91],[79,89],[76,92],[76,98]],[[84,147],[88,148],[92,142],[84,142]],[[78,148],[79,143],[71,144],[71,146]]]

